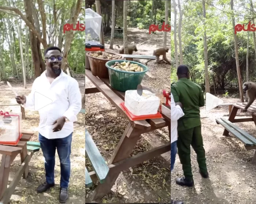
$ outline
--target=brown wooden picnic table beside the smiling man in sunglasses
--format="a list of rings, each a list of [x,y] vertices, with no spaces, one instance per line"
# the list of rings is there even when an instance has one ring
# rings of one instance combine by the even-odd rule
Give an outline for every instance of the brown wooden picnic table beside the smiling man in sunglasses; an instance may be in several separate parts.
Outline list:
[[[8,203],[22,175],[23,178],[27,178],[29,173],[29,161],[34,152],[40,149],[37,142],[29,141],[34,134],[33,132],[23,130],[22,134],[23,136],[16,146],[0,145],[0,154],[2,155],[0,166],[0,203]],[[7,188],[11,164],[18,154],[20,154],[21,165]]]

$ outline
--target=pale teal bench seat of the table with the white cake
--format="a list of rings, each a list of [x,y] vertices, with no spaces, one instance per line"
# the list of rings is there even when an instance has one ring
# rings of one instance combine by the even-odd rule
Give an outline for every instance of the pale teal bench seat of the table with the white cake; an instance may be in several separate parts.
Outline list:
[[[98,147],[91,138],[90,133],[85,129],[85,153],[89,158],[91,165],[97,175],[98,181],[103,184],[105,182],[106,176],[109,172],[109,167],[106,165],[105,160],[103,159],[101,153],[98,150]],[[90,173],[85,167],[85,186],[90,188],[93,185],[93,181],[90,177]]]

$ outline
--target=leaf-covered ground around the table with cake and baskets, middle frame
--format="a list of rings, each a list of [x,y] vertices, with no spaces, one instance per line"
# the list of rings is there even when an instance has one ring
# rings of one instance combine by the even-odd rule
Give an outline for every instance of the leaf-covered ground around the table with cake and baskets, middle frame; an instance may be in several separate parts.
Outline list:
[[[148,34],[146,30],[129,29],[128,41],[137,45],[135,54],[152,55],[153,50],[161,47],[162,33]],[[105,38],[106,51],[110,50],[108,37]],[[167,37],[170,45],[170,36]],[[158,42],[158,45],[155,44]],[[123,39],[115,39],[115,44],[122,45]],[[170,52],[169,52],[170,53]],[[167,56],[170,60],[170,54]],[[147,60],[140,60],[146,62]],[[162,89],[170,90],[170,66],[167,64],[148,63],[149,71],[143,79],[143,84],[157,92]],[[86,87],[94,87],[86,78]],[[103,94],[89,94],[86,96],[86,128],[99,147],[103,158],[108,162],[117,146],[126,126],[127,120],[106,99]],[[142,135],[132,155],[165,144],[169,141],[168,130],[163,128]],[[86,158],[86,166],[90,169],[90,162]],[[90,169],[91,170],[91,169]],[[141,165],[121,172],[111,192],[103,197],[102,203],[169,203],[170,188],[170,152],[158,156]],[[86,189],[86,202],[91,203],[92,189]]]

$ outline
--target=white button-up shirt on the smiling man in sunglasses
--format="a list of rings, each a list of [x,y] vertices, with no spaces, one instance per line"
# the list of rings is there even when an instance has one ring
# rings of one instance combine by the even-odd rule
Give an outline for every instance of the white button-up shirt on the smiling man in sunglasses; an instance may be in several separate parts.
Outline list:
[[[61,71],[60,75],[50,84],[46,71],[34,80],[32,90],[26,96],[25,108],[34,110],[35,92],[44,95],[53,102],[38,110],[40,122],[38,132],[47,139],[57,139],[69,136],[74,131],[73,122],[82,108],[82,95],[78,82]],[[67,117],[61,131],[53,132],[53,122],[60,117]],[[55,124],[56,125],[56,124]]]

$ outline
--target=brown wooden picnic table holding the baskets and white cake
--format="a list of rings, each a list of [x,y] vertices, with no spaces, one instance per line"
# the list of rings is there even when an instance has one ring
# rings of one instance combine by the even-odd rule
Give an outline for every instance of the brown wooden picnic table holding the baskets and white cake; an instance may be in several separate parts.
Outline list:
[[[129,120],[128,116],[120,105],[122,102],[124,102],[125,92],[114,90],[110,86],[109,79],[100,79],[97,76],[94,76],[90,70],[86,70],[85,74],[95,86],[95,88],[86,88],[85,93],[92,94],[101,92],[112,103],[112,105],[115,106],[125,118],[127,118],[128,121],[127,128],[125,129],[123,136],[117,144],[117,147],[108,163],[109,173],[105,179],[105,182],[97,186],[92,196],[93,200],[97,200],[108,194],[121,171],[138,165],[146,160],[153,159],[156,156],[171,150],[171,145],[169,142],[162,146],[130,157],[135,145],[137,144],[137,141],[140,139],[140,135],[144,133],[168,126],[169,137],[171,140],[170,121],[166,118],[140,121]],[[98,180],[94,171],[89,174],[93,182]]]

